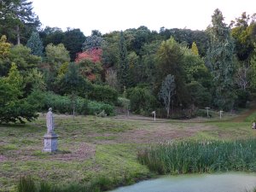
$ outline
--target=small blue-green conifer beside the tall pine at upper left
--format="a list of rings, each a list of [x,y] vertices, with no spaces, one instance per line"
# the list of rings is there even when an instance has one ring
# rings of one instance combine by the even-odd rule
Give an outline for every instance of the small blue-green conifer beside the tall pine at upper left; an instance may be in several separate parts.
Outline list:
[[[38,32],[32,32],[31,37],[26,43],[26,47],[31,49],[32,55],[43,56],[43,42],[41,41]]]

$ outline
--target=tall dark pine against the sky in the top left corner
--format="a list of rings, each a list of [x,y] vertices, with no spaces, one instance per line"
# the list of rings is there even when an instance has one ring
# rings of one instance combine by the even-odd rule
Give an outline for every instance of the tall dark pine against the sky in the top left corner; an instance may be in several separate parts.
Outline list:
[[[32,2],[27,0],[1,1],[0,18],[0,33],[10,39],[15,37],[16,44],[26,42],[27,34],[30,36],[40,25],[38,16],[32,12]]]

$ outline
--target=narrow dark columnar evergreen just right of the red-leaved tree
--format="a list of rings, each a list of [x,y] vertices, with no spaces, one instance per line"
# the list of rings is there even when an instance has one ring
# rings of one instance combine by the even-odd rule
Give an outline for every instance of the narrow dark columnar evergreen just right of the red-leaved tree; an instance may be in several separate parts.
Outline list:
[[[119,70],[118,70],[118,79],[121,85],[121,89],[128,85],[128,59],[127,59],[127,49],[125,44],[124,33],[120,32],[119,40]]]

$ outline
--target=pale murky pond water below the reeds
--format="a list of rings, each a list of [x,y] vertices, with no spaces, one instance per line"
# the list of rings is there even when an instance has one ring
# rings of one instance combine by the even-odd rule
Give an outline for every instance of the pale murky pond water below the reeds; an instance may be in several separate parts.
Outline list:
[[[256,174],[229,172],[163,176],[111,192],[246,192],[256,187]]]

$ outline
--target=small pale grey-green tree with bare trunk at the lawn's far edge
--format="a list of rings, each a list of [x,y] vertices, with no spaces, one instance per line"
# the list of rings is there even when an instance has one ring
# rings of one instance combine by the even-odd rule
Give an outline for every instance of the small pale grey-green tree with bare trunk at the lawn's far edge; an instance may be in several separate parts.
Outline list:
[[[166,107],[166,114],[167,118],[170,117],[170,108],[171,108],[171,102],[172,102],[172,96],[175,94],[175,81],[174,76],[171,74],[168,74],[166,76],[166,79],[163,81],[159,97],[160,100],[162,100]]]

